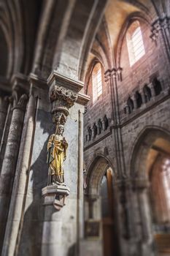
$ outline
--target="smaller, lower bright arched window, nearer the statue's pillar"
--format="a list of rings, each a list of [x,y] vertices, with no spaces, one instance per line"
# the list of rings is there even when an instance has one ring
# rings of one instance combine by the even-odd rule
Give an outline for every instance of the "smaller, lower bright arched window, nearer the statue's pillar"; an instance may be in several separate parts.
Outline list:
[[[101,64],[98,62],[92,72],[93,102],[102,94]]]

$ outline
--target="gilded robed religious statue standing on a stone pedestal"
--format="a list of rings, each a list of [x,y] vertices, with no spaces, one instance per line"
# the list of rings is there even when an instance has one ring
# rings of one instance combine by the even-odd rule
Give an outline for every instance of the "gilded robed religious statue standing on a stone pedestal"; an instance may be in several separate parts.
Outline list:
[[[68,143],[63,137],[63,125],[59,124],[55,134],[50,136],[47,143],[48,186],[64,185],[63,162],[66,159],[67,147]]]

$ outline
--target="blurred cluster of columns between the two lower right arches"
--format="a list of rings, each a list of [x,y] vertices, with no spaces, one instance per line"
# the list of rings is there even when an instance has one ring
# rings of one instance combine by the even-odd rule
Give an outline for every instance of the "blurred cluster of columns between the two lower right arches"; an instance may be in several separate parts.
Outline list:
[[[147,179],[137,177],[114,184],[120,255],[155,255],[148,187]]]

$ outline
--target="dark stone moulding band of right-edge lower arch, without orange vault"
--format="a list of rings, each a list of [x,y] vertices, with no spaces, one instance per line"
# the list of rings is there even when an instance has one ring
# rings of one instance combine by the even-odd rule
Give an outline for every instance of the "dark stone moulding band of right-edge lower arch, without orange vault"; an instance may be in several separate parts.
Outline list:
[[[147,156],[156,140],[163,139],[170,145],[170,132],[162,127],[147,126],[139,133],[131,149],[130,175],[146,178]]]

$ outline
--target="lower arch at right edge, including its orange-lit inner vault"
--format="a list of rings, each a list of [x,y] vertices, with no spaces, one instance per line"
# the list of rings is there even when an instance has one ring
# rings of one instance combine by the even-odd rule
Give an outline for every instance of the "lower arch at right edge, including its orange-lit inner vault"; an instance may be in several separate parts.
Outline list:
[[[157,157],[156,151],[170,154],[170,132],[161,127],[145,127],[132,149],[130,170],[133,178],[147,178]]]

